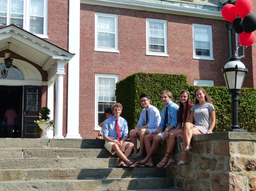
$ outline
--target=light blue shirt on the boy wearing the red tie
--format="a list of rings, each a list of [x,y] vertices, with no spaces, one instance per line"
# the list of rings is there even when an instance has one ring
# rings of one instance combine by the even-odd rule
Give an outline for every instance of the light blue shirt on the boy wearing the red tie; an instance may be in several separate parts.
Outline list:
[[[118,118],[118,127],[120,131],[121,138],[128,137],[128,125],[127,121],[119,117]],[[109,137],[114,140],[118,139],[118,134],[116,130],[116,118],[114,116],[106,119],[103,124],[103,137]]]

